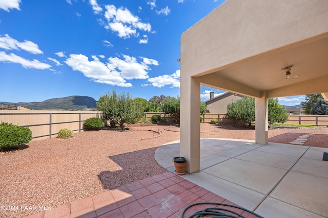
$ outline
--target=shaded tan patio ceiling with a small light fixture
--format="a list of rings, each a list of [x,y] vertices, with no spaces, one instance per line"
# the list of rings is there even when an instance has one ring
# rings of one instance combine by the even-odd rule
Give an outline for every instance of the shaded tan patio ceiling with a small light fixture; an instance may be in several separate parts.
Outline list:
[[[320,81],[322,77],[328,75],[327,58],[328,38],[324,38],[273,54],[249,58],[212,74],[217,77],[217,80],[223,78],[258,91],[288,88],[293,84],[299,85],[301,88],[303,87],[302,82],[313,79]],[[281,68],[291,65],[293,66],[290,71],[291,77],[286,79],[285,70],[281,70]],[[294,76],[297,77],[293,78]],[[318,90],[317,86],[309,87],[308,91],[305,91],[306,93],[302,89],[294,89],[290,93],[283,93],[283,96],[328,91],[328,85],[323,88]]]

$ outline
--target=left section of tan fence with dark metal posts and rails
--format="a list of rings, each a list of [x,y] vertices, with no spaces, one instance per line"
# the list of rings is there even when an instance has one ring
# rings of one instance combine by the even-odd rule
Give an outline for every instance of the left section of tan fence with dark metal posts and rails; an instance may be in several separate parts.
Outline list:
[[[64,128],[81,132],[87,118],[102,118],[102,114],[100,111],[2,110],[0,122],[27,126],[32,131],[33,139],[44,139],[57,136],[58,131]]]

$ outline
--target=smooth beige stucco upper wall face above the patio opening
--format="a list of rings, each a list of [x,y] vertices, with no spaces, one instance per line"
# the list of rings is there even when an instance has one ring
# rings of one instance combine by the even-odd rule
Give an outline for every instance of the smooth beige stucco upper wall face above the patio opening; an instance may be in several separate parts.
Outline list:
[[[317,40],[327,33],[322,27],[327,10],[327,0],[224,2],[182,33],[181,68],[186,70],[181,74],[206,74],[304,39]]]

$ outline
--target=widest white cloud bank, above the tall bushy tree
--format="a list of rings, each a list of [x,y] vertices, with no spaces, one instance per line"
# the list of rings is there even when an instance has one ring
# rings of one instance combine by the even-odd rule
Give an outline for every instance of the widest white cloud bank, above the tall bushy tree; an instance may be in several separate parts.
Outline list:
[[[151,70],[149,65],[158,65],[156,60],[143,58],[143,61],[138,62],[135,57],[128,55],[122,55],[122,58],[110,57],[107,63],[99,61],[96,56],[92,56],[92,58],[93,60],[89,61],[88,57],[84,55],[72,54],[65,63],[73,70],[83,72],[94,82],[121,87],[132,86],[126,80],[149,78],[148,71]]]

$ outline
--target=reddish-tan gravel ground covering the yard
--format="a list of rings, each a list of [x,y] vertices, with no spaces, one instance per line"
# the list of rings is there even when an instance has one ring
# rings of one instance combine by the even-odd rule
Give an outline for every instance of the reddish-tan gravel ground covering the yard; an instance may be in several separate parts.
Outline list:
[[[22,217],[38,210],[21,206],[58,207],[107,189],[152,177],[166,170],[154,159],[161,144],[178,140],[179,128],[134,127],[162,131],[90,131],[75,133],[71,139],[33,140],[28,148],[0,153],[0,206],[15,205],[15,211],[0,210],[0,217]],[[289,143],[312,134],[304,146],[328,148],[328,129],[269,130],[269,141]],[[242,127],[201,124],[202,138],[255,140],[255,130]]]

